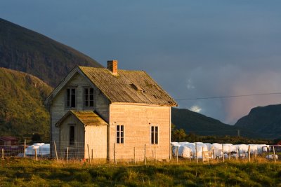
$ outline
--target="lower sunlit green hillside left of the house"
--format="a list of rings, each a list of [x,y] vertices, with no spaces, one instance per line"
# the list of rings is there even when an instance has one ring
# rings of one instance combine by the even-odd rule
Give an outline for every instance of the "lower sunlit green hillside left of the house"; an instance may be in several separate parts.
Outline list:
[[[50,116],[43,102],[51,90],[35,76],[0,68],[0,136],[39,133],[47,140]]]

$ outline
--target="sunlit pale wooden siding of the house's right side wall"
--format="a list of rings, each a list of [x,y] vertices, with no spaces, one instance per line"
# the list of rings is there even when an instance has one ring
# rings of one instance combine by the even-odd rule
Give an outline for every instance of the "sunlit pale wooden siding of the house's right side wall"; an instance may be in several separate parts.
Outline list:
[[[110,104],[109,158],[113,159],[114,144],[117,160],[132,160],[133,147],[136,148],[136,160],[146,157],[157,160],[169,160],[171,143],[171,107],[169,106],[133,106]],[[116,126],[124,125],[124,144],[116,144]],[[151,144],[150,128],[158,126],[158,144]]]

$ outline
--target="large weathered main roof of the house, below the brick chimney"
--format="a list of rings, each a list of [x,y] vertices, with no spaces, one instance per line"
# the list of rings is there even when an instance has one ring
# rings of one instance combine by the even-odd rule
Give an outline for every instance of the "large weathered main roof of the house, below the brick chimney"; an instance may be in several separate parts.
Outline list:
[[[112,103],[177,106],[174,99],[145,71],[118,69],[117,75],[113,75],[105,68],[79,67],[79,69]]]

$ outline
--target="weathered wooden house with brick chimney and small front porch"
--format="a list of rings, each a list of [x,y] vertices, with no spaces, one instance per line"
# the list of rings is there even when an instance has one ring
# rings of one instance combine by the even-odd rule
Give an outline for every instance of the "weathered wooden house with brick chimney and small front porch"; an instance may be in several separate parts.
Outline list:
[[[58,156],[169,160],[172,99],[145,71],[74,67],[46,100]],[[89,147],[89,151],[88,151]],[[156,152],[156,153],[155,153]]]

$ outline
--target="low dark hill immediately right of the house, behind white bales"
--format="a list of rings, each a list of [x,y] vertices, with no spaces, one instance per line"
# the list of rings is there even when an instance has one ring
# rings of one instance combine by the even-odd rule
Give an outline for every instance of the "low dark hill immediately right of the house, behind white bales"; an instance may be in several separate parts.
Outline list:
[[[217,136],[237,136],[237,130],[241,130],[241,136],[243,137],[260,137],[259,134],[251,132],[251,130],[238,127],[234,125],[228,125],[222,123],[219,120],[210,118],[196,113],[188,109],[171,109],[171,122],[176,125],[176,129],[183,129],[186,133],[193,132],[200,135],[217,135]]]

